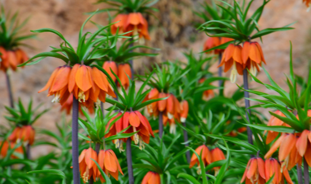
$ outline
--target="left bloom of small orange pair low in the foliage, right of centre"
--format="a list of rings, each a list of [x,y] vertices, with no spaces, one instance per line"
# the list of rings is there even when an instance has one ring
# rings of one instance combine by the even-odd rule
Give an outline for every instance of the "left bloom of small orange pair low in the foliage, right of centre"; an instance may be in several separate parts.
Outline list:
[[[199,146],[196,148],[196,153],[201,156],[201,159],[204,163],[205,166],[207,166],[208,164],[212,163],[212,154],[209,150],[209,148],[205,145]],[[193,153],[191,160],[190,160],[190,165],[189,168],[194,167],[197,164],[197,173],[201,174],[201,168],[200,168],[200,162],[199,159],[197,158],[196,154]]]

